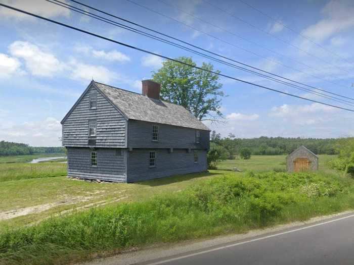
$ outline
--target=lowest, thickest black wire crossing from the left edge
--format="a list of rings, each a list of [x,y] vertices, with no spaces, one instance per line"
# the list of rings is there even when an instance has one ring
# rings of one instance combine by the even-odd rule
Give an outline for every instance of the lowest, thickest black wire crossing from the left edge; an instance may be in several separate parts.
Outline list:
[[[14,7],[11,7],[11,6],[8,6],[8,5],[5,5],[5,4],[1,4],[1,3],[0,3],[0,6],[8,8],[8,9],[11,9],[11,10],[14,10],[14,11],[17,11],[17,12],[20,12],[20,13],[23,13],[23,14],[27,14],[29,16],[32,16],[32,17],[35,17],[35,18],[38,18],[38,19],[41,19],[41,20],[45,20],[45,21],[51,22],[51,23],[54,23],[54,24],[57,24],[57,25],[60,25],[60,26],[75,30],[75,31],[82,32],[82,33],[85,33],[87,35],[91,35],[91,36],[94,36],[94,37],[97,37],[97,38],[101,38],[101,39],[104,39],[104,40],[107,40],[107,41],[110,41],[110,42],[114,42],[114,43],[117,43],[119,45],[122,45],[122,46],[125,46],[125,47],[128,47],[128,48],[139,50],[139,51],[145,52],[147,54],[163,58],[165,60],[169,60],[169,61],[176,62],[176,63],[179,63],[179,64],[183,64],[183,65],[186,65],[186,66],[189,66],[189,67],[192,67],[192,68],[196,68],[196,69],[208,72],[208,73],[212,73],[212,74],[215,74],[215,75],[218,75],[218,76],[226,77],[226,78],[229,78],[229,79],[232,79],[232,80],[235,80],[235,81],[239,81],[239,82],[242,82],[242,83],[245,83],[245,84],[249,84],[249,85],[253,85],[253,86],[256,86],[256,87],[264,88],[264,89],[267,89],[267,90],[270,90],[270,91],[274,91],[274,92],[277,92],[277,93],[281,93],[281,94],[284,94],[284,95],[289,95],[289,96],[293,96],[293,97],[300,98],[300,99],[303,99],[303,100],[307,100],[307,101],[311,101],[311,102],[327,105],[329,107],[333,107],[333,108],[336,108],[336,109],[341,109],[341,110],[354,112],[354,110],[352,110],[352,109],[346,109],[346,108],[339,107],[337,105],[332,105],[332,104],[324,103],[324,102],[317,101],[317,100],[314,100],[314,99],[310,99],[310,98],[294,95],[294,94],[287,93],[287,92],[284,92],[284,91],[281,91],[281,90],[273,89],[273,88],[270,88],[270,87],[266,87],[266,86],[258,85],[258,84],[255,84],[255,83],[252,83],[252,82],[248,82],[248,81],[245,81],[245,80],[242,80],[242,79],[238,79],[238,78],[235,78],[235,77],[232,77],[232,76],[229,76],[229,75],[225,75],[225,74],[222,74],[222,73],[219,73],[219,72],[215,72],[215,71],[211,71],[211,70],[208,70],[208,69],[204,69],[202,67],[194,66],[194,65],[191,65],[191,64],[176,60],[176,59],[169,58],[167,56],[156,54],[155,52],[152,52],[152,51],[149,51],[149,50],[146,50],[146,49],[142,49],[142,48],[139,48],[139,47],[136,47],[136,46],[132,46],[132,45],[126,44],[124,42],[120,42],[120,41],[117,41],[117,40],[114,40],[114,39],[110,39],[110,38],[104,37],[102,35],[90,32],[90,31],[86,31],[86,30],[83,30],[83,29],[80,29],[80,28],[77,28],[77,27],[74,27],[74,26],[70,26],[70,25],[65,24],[65,23],[61,23],[61,22],[53,20],[53,19],[42,17],[42,16],[30,13],[30,12],[24,11],[22,9],[14,8]]]

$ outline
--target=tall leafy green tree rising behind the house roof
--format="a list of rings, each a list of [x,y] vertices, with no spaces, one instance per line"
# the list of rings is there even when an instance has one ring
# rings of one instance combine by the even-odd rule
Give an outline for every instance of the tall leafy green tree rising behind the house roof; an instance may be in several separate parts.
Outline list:
[[[192,58],[180,57],[176,60],[196,66]],[[219,73],[211,64],[203,63],[203,69]],[[161,84],[160,95],[164,100],[182,105],[200,121],[217,121],[223,117],[220,112],[222,84],[219,76],[173,61],[165,61],[153,72],[154,81]]]

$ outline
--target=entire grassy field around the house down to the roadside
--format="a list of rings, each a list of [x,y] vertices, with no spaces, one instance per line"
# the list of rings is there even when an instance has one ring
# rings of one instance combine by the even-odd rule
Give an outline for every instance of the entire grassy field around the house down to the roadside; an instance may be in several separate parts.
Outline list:
[[[0,164],[0,181],[7,176],[0,185],[0,263],[64,264],[352,208],[354,180],[327,167],[334,157],[320,155],[317,173],[276,173],[285,170],[285,156],[254,155],[209,173],[134,184],[55,177],[66,167],[56,162],[34,164],[39,178],[18,180],[29,164]]]

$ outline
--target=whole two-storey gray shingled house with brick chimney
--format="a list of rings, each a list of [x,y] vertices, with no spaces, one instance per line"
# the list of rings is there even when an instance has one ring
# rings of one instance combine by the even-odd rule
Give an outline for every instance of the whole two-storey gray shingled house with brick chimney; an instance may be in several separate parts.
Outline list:
[[[92,81],[61,121],[68,176],[136,182],[207,170],[210,130],[181,105]]]

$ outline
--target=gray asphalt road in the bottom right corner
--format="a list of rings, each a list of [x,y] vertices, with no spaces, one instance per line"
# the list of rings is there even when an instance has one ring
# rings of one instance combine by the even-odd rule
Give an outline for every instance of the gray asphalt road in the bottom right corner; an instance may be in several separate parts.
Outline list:
[[[354,215],[140,264],[354,264]]]

